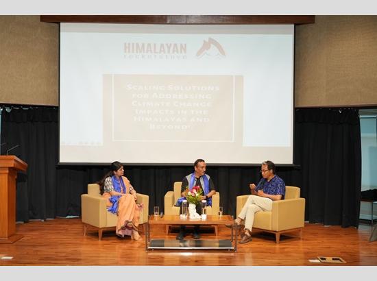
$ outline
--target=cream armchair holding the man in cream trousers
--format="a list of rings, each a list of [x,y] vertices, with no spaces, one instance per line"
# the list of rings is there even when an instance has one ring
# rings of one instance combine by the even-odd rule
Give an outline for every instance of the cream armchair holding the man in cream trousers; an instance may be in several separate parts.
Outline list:
[[[239,215],[243,205],[250,195],[237,196],[236,214]],[[273,201],[271,211],[260,211],[255,214],[253,229],[274,233],[276,243],[280,241],[280,234],[285,232],[300,232],[304,228],[305,199],[300,198],[300,188],[285,186],[283,200]]]

